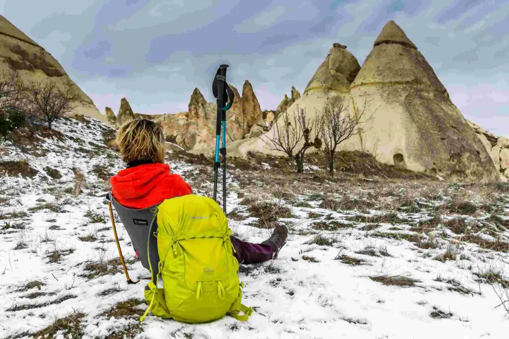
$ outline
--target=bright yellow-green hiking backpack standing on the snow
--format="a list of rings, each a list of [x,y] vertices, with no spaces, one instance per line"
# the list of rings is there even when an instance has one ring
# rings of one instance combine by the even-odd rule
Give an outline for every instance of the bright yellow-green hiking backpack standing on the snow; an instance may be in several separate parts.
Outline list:
[[[210,322],[227,314],[246,321],[253,311],[241,304],[243,284],[232,231],[219,205],[189,194],[165,200],[156,213],[158,272],[155,284],[151,281],[145,288],[149,307],[140,321],[149,311],[185,323]],[[152,273],[156,263],[149,264]],[[162,289],[157,287],[160,278]]]

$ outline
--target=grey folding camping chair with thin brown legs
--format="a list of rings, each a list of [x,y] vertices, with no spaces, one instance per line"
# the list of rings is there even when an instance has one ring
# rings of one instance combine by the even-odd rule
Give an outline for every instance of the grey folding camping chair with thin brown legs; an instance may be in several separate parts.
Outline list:
[[[124,262],[124,256],[122,255],[122,249],[120,248],[119,237],[117,235],[117,228],[115,227],[115,219],[113,217],[113,209],[111,208],[111,205],[115,207],[115,210],[117,211],[120,220],[122,220],[129,238],[131,238],[134,250],[138,253],[139,261],[142,262],[142,266],[149,271],[151,268],[149,259],[151,263],[159,262],[156,237],[157,215],[155,213],[155,209],[158,205],[144,209],[126,208],[120,205],[117,200],[115,200],[111,192],[106,194],[106,200],[108,201],[111,225],[113,227],[113,233],[115,234],[117,248],[119,250],[120,263],[124,269],[124,273],[127,278],[127,284],[136,284],[139,280],[131,280],[131,278],[129,278],[129,273],[127,273],[127,267]],[[148,248],[150,248],[150,252]],[[159,273],[159,268],[157,266],[158,265],[154,265],[154,267],[152,267],[152,281],[156,281],[155,278]]]

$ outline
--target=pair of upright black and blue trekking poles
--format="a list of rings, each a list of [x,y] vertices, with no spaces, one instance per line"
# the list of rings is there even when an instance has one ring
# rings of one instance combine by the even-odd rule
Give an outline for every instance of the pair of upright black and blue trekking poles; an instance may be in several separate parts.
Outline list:
[[[223,160],[223,211],[226,214],[226,111],[230,109],[233,104],[233,91],[226,83],[226,71],[228,65],[220,65],[216,72],[214,81],[212,82],[212,93],[216,98],[217,115],[216,115],[216,149],[214,158],[214,201],[217,199],[217,179],[218,170],[221,166],[219,162],[219,154],[222,155]],[[228,105],[224,103],[228,101]],[[221,127],[223,132],[222,148],[219,148],[221,137]]]

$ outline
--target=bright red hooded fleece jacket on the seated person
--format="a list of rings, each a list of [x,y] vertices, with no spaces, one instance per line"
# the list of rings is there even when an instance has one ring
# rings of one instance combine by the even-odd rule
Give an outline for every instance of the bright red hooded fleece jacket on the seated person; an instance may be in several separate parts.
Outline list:
[[[143,209],[174,196],[192,194],[191,186],[164,163],[148,163],[120,171],[111,177],[111,193],[124,207]]]

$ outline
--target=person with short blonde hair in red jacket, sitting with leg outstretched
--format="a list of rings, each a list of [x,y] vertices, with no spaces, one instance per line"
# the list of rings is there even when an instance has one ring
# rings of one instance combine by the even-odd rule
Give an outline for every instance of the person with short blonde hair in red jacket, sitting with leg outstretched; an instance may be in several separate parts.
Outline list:
[[[191,186],[164,163],[166,155],[162,127],[150,120],[124,123],[117,132],[117,143],[127,168],[111,177],[111,193],[126,208],[144,209],[172,197],[193,194]],[[286,244],[288,229],[277,225],[271,237],[260,244],[231,236],[234,256],[239,264],[262,263],[277,258]]]

